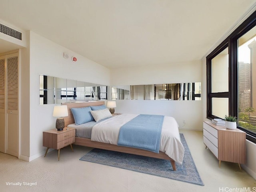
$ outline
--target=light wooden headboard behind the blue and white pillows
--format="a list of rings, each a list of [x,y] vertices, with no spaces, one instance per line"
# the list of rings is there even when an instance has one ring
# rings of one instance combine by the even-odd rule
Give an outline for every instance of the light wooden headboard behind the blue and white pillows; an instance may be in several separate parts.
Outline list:
[[[88,102],[74,102],[74,103],[62,103],[61,105],[66,105],[68,107],[68,116],[63,117],[65,121],[65,127],[69,124],[75,122],[73,114],[71,112],[71,108],[81,108],[81,107],[88,107],[88,106],[98,106],[104,105],[105,101],[88,101]]]

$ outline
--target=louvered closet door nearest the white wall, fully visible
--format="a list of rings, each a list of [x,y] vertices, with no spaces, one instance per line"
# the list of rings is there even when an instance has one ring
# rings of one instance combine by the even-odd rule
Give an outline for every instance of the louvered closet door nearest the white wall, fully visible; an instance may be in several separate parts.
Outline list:
[[[7,58],[6,153],[18,157],[18,56]]]

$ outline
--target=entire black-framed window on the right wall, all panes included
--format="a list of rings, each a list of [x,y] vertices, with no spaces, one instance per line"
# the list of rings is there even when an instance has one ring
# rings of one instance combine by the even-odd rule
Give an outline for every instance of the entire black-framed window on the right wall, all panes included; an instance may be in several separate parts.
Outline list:
[[[207,118],[238,117],[256,143],[256,12],[206,57]]]

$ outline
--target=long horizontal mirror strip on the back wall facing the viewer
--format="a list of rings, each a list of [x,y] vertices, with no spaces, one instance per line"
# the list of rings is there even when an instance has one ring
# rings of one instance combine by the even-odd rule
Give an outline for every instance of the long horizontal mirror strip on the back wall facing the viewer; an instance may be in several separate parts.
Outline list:
[[[112,86],[112,100],[201,100],[201,82]]]

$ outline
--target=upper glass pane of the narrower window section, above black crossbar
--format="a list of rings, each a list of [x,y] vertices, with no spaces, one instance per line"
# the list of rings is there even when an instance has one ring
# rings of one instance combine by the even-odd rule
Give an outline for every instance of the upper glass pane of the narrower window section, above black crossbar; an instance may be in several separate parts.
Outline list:
[[[228,92],[228,48],[212,59],[212,93]]]

